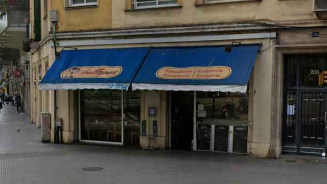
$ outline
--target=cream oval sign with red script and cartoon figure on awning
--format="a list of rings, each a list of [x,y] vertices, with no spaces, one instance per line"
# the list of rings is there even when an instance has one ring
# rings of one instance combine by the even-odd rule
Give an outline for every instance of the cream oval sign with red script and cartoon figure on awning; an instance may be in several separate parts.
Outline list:
[[[74,66],[60,74],[63,79],[112,78],[123,72],[121,66]]]

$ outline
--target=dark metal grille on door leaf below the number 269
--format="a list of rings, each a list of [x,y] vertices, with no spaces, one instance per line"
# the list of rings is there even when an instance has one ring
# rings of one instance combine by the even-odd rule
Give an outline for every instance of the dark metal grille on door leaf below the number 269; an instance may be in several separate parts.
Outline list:
[[[301,93],[301,146],[324,146],[327,93]]]

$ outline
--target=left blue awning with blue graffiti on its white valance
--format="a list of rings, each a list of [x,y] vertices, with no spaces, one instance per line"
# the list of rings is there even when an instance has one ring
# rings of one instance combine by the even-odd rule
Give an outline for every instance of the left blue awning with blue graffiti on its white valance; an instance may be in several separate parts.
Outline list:
[[[39,83],[40,90],[127,90],[149,48],[62,51]]]

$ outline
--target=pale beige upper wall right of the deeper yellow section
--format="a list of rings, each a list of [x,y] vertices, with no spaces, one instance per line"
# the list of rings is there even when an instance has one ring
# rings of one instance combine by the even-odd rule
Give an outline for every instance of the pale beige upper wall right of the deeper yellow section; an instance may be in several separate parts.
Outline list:
[[[112,0],[112,27],[132,28],[164,25],[211,24],[242,20],[316,20],[312,0],[262,0],[195,6],[182,1],[182,8],[126,11],[127,1]]]

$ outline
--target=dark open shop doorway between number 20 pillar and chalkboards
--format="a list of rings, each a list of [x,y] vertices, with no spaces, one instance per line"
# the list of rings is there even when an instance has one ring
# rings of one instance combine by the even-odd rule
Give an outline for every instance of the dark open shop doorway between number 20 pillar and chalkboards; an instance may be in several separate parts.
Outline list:
[[[194,92],[171,92],[171,148],[192,150]]]

